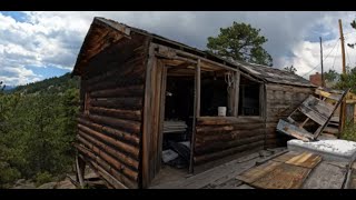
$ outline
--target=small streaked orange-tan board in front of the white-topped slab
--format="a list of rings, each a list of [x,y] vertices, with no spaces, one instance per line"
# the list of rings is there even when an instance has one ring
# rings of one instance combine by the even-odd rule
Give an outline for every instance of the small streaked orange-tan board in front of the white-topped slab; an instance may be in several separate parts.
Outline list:
[[[314,154],[314,153],[310,153],[310,152],[303,152],[303,153],[289,159],[288,161],[286,161],[286,163],[313,169],[320,161],[322,161],[322,157],[320,156]]]

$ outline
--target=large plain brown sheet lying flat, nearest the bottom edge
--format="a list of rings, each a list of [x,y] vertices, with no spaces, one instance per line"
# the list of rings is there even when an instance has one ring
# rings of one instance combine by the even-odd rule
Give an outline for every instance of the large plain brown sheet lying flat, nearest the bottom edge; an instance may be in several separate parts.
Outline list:
[[[263,189],[299,189],[310,171],[308,168],[280,163],[253,186]]]

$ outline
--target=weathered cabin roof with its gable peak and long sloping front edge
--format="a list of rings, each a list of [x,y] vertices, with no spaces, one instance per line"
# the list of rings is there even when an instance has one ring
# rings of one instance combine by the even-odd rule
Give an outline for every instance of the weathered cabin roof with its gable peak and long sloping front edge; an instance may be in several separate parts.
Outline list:
[[[95,17],[95,19],[90,26],[90,29],[86,36],[86,39],[85,39],[82,47],[80,49],[80,52],[78,54],[77,62],[76,62],[73,71],[72,71],[73,76],[81,74],[81,72],[80,72],[81,68],[83,66],[86,66],[86,63],[93,57],[95,51],[100,51],[100,50],[103,50],[103,48],[106,48],[106,47],[98,47],[97,44],[95,44],[96,42],[93,40],[96,38],[100,38],[100,37],[98,37],[98,34],[100,36],[100,33],[101,33],[103,36],[106,33],[105,37],[108,36],[108,33],[106,31],[100,31],[98,29],[110,29],[110,31],[116,30],[116,32],[118,32],[120,34],[120,37],[111,34],[110,40],[113,42],[120,40],[123,37],[130,38],[130,34],[132,32],[136,32],[139,34],[150,37],[152,39],[152,42],[157,42],[160,44],[169,46],[171,48],[184,50],[184,51],[204,57],[206,59],[214,60],[219,63],[224,63],[227,67],[230,67],[234,69],[240,69],[240,71],[248,73],[248,74],[251,74],[253,77],[260,79],[260,80],[264,80],[266,82],[290,84],[290,86],[301,86],[301,87],[315,87],[308,80],[306,80],[297,74],[290,73],[288,71],[284,71],[284,70],[280,70],[277,68],[261,66],[261,64],[227,60],[221,57],[215,56],[208,51],[202,51],[197,48],[192,48],[190,46],[167,39],[165,37],[161,37],[161,36],[155,34],[155,33],[150,33],[146,30],[138,29],[135,27],[129,27],[127,24],[119,23],[117,21],[100,18],[100,17]]]

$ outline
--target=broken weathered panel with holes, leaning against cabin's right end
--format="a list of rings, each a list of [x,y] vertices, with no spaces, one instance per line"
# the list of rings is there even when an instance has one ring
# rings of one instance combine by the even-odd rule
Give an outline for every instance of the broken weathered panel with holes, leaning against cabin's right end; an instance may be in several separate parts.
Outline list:
[[[283,119],[279,120],[277,130],[304,141],[315,140],[326,128],[347,92],[348,90],[342,91],[318,88],[316,94],[319,94],[323,99],[309,96],[291,114],[289,114],[287,118],[288,122]],[[328,102],[329,100],[337,101],[336,103],[332,103]],[[297,112],[301,112],[307,119],[303,122],[293,119],[293,116]],[[307,124],[308,120],[313,120],[319,124],[315,132],[310,133],[304,129],[304,126]]]

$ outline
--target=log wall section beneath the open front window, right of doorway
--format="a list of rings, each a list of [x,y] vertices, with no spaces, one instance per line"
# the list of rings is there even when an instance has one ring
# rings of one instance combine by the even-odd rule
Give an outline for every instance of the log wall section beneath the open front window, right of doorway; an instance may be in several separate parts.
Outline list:
[[[200,117],[197,119],[195,164],[263,149],[265,121],[259,117]]]

